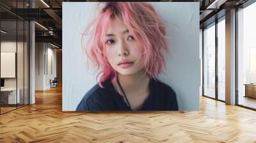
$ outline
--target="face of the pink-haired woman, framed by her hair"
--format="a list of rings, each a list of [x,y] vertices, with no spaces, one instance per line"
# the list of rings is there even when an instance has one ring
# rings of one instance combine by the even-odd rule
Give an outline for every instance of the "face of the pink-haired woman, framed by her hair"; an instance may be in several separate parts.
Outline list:
[[[145,70],[141,59],[143,47],[134,39],[123,21],[109,21],[104,43],[109,64],[119,74],[133,75]]]

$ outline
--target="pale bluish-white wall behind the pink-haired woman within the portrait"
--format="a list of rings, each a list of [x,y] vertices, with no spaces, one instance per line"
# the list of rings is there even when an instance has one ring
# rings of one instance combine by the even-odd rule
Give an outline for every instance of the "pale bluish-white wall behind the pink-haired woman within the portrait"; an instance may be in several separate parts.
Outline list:
[[[170,46],[167,74],[160,75],[159,80],[177,93],[180,110],[199,110],[199,3],[152,4],[166,24]],[[76,110],[84,94],[96,84],[97,72],[86,70],[81,48],[81,33],[94,17],[95,3],[63,3],[62,109],[65,111]]]

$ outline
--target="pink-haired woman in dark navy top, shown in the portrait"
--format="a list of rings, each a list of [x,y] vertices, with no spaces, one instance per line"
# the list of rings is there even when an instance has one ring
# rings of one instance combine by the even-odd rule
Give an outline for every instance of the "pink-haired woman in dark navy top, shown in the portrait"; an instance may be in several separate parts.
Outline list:
[[[173,89],[156,79],[168,48],[153,6],[105,3],[85,33],[89,29],[92,36],[84,50],[101,72],[77,111],[178,110]]]

